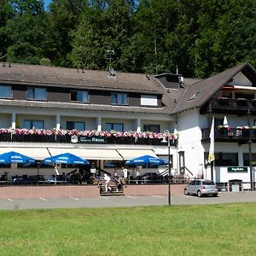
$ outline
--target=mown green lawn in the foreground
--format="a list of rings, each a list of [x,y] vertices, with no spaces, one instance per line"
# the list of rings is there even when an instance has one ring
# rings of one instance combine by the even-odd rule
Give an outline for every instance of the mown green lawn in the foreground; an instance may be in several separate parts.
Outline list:
[[[254,255],[256,203],[0,211],[0,255]]]

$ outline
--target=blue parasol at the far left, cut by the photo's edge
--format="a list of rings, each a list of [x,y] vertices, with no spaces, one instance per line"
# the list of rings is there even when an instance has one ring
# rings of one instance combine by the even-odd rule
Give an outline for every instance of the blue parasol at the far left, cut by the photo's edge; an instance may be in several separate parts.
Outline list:
[[[36,162],[36,160],[34,160],[32,157],[26,156],[25,154],[20,154],[15,151],[9,151],[7,153],[0,154],[0,163],[1,164],[10,164],[10,163],[34,164],[35,162]]]

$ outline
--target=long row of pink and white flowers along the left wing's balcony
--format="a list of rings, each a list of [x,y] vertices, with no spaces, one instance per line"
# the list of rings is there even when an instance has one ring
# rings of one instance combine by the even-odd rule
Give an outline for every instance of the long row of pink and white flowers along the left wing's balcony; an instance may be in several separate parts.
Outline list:
[[[166,137],[166,134],[151,131],[78,131],[78,130],[44,130],[44,129],[15,129],[15,128],[1,128],[0,134],[15,134],[15,135],[38,135],[38,136],[65,136],[76,135],[86,137],[137,137],[137,138],[153,138],[162,139]],[[178,135],[170,133],[168,135],[170,139],[177,139]]]

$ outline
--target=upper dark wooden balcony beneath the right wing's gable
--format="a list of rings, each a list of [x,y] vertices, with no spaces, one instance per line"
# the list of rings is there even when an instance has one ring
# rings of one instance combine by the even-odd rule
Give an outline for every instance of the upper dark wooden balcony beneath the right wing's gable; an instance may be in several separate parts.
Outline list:
[[[248,109],[251,113],[256,114],[256,99],[218,97],[210,99],[201,108],[201,113],[212,111],[213,113],[247,114]]]

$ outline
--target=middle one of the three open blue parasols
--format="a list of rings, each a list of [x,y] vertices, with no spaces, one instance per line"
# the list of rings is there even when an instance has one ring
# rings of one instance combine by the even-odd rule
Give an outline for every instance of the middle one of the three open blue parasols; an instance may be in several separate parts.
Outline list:
[[[70,164],[70,165],[90,165],[88,160],[83,160],[79,156],[70,153],[57,154],[44,159],[45,164]]]

